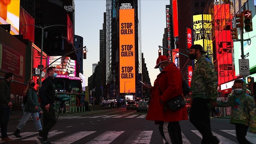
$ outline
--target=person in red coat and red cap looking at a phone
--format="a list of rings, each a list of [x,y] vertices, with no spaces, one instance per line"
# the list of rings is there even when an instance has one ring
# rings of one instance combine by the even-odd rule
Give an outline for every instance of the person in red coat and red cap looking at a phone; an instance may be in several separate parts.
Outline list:
[[[159,124],[161,136],[168,144],[182,144],[182,135],[179,121],[188,120],[186,107],[172,111],[166,107],[170,99],[182,95],[182,77],[179,69],[174,63],[170,63],[166,56],[157,58],[157,65],[160,73],[150,86],[144,82],[144,89],[151,91],[150,105],[146,120],[155,121]],[[166,109],[165,109],[166,108]]]

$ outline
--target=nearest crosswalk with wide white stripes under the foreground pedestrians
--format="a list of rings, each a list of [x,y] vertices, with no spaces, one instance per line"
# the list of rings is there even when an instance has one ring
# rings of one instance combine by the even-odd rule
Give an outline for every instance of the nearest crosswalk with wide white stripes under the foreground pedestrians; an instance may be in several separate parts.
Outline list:
[[[198,138],[202,139],[202,135],[198,130],[189,130],[189,133],[196,134]],[[218,132],[212,132],[214,136],[217,136],[219,140],[223,142],[223,144],[237,144],[235,140],[236,131],[235,130],[219,130]],[[221,134],[222,133],[222,134]],[[225,134],[223,134],[225,133]],[[223,135],[229,135],[229,138],[224,137]],[[22,138],[16,138],[12,135],[12,133],[8,133],[8,137],[14,139],[15,141],[31,141],[35,140],[35,137],[38,135],[38,132],[23,132],[20,133]],[[61,137],[61,138],[60,138]],[[233,137],[233,140],[230,140],[230,137]],[[182,133],[182,140],[184,144],[195,143],[195,137],[191,138],[191,140],[187,139],[186,135]],[[165,141],[159,137],[159,131],[153,132],[153,130],[146,131],[105,131],[105,132],[97,132],[97,131],[79,131],[79,132],[63,132],[59,130],[53,130],[49,132],[48,139],[52,141],[54,144],[153,144],[153,143],[165,143]],[[122,142],[120,141],[122,140]],[[156,141],[156,139],[158,141]],[[251,143],[256,144],[256,134],[247,132],[246,139]],[[0,143],[4,143],[0,141]],[[200,141],[198,142],[200,143]]]

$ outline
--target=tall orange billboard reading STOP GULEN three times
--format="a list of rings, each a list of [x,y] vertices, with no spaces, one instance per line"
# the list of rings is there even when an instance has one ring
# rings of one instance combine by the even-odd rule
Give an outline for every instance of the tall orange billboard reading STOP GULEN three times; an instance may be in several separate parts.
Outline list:
[[[119,10],[120,92],[135,89],[134,9]]]

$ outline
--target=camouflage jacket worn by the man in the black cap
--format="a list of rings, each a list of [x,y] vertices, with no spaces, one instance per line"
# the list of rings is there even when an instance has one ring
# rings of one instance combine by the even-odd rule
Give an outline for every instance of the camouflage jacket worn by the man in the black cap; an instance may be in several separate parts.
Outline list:
[[[202,54],[196,62],[193,69],[191,80],[191,98],[199,97],[210,99],[211,102],[217,102],[218,79],[215,69],[206,54]]]

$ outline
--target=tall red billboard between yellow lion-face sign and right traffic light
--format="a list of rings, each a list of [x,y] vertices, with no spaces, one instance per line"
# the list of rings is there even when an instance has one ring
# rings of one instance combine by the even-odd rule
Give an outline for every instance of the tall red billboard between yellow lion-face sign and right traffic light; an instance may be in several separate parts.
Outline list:
[[[236,78],[232,54],[234,46],[231,39],[230,5],[214,5],[214,12],[216,60],[220,85]]]

